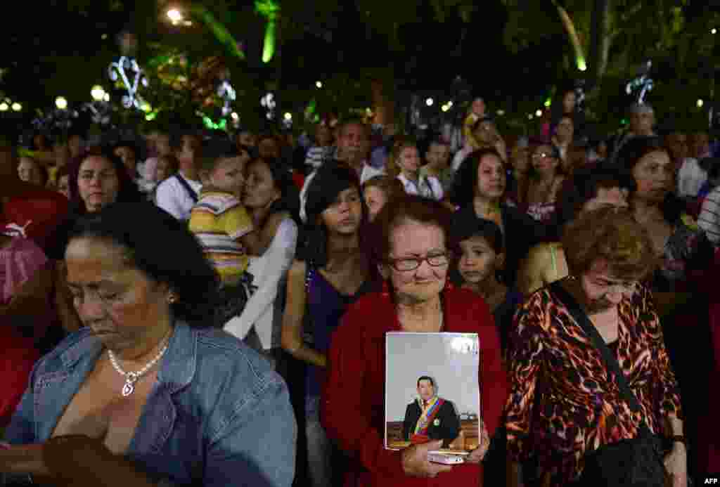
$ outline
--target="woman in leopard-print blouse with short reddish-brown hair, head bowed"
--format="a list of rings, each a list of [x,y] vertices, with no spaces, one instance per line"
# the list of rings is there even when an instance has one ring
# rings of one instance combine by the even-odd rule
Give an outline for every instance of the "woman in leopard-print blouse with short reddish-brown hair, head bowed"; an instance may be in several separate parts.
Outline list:
[[[643,421],[655,434],[683,434],[660,320],[639,284],[655,264],[649,237],[629,211],[603,208],[570,224],[563,246],[571,277],[562,286],[615,352],[641,410],[631,412],[602,355],[552,290],[528,296],[511,332],[508,454],[516,462],[534,456],[543,486],[577,481],[585,455],[635,437]],[[683,443],[675,443],[665,458],[675,486],[683,485],[686,463]]]

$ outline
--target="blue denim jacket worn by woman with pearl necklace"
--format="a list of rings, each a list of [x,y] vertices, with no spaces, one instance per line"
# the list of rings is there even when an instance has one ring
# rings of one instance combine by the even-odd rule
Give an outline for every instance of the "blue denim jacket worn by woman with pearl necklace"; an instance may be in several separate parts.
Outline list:
[[[102,350],[81,329],[42,358],[5,440],[48,440]],[[177,323],[126,455],[161,485],[290,486],[296,441],[287,386],[264,359]]]

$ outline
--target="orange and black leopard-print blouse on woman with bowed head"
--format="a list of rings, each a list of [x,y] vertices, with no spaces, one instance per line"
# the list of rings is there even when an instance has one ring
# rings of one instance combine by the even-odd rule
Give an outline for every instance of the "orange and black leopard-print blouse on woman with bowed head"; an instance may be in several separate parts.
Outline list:
[[[576,481],[583,457],[601,445],[635,437],[646,422],[661,433],[680,410],[680,390],[660,320],[644,286],[619,304],[617,357],[641,410],[633,414],[602,355],[548,288],[531,294],[510,332],[510,396],[505,405],[508,455],[535,456],[550,485]]]

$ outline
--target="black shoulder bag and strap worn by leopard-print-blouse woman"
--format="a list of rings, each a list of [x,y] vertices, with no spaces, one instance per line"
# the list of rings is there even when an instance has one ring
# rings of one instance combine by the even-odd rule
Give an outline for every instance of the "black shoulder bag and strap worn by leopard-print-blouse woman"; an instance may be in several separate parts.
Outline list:
[[[614,376],[621,396],[627,401],[631,411],[639,411],[640,404],[628,385],[618,360],[603,337],[600,337],[598,329],[590,322],[588,315],[559,281],[550,284],[549,287],[600,351],[606,368]],[[653,434],[643,422],[636,437],[603,445],[598,450],[588,453],[585,456],[585,469],[577,485],[665,487],[670,477],[663,464],[664,456],[662,439]]]

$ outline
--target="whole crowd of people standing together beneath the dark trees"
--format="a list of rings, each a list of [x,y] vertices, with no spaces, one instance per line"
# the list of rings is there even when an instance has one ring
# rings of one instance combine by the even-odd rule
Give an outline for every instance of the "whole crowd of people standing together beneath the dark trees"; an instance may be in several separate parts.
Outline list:
[[[5,137],[6,485],[631,485],[603,455],[645,434],[673,486],[720,470],[720,147],[648,104],[588,142],[557,104],[503,136],[475,99],[459,146],[359,119]],[[480,338],[462,464],[386,447],[387,332]]]

